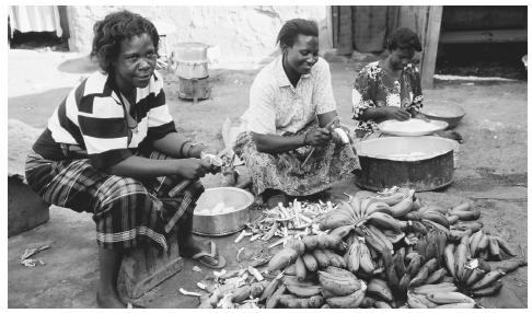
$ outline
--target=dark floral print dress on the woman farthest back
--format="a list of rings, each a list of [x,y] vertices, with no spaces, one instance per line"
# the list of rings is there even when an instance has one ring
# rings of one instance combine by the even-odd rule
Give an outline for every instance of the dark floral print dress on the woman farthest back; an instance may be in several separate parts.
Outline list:
[[[378,130],[377,123],[381,120],[362,120],[361,116],[367,108],[392,105],[419,112],[423,107],[419,70],[408,63],[403,69],[400,80],[391,81],[379,61],[371,62],[355,79],[351,100],[352,119],[358,120],[357,130]]]

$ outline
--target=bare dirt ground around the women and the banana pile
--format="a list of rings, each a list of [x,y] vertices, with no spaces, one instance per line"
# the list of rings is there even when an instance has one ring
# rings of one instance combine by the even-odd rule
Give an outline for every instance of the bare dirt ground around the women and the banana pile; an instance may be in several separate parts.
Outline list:
[[[350,94],[355,68],[360,65],[337,60],[331,63],[338,113],[344,123],[350,119]],[[94,67],[83,56],[33,50],[9,51],[9,118],[44,128],[55,106],[69,89]],[[178,131],[198,141],[221,147],[221,126],[225,118],[240,116],[247,106],[248,89],[257,70],[211,69],[211,98],[194,104],[177,97],[177,78],[165,73],[165,92]],[[423,193],[430,199],[463,198],[482,209],[485,229],[500,234],[516,250],[528,248],[527,205],[527,81],[510,83],[443,83],[425,90],[426,105],[454,102],[466,115],[455,129],[464,137],[458,153],[453,184],[440,193]],[[10,146],[10,153],[11,146]],[[206,179],[207,186],[216,177]],[[333,198],[343,192],[355,193],[352,179],[339,182]],[[454,198],[453,198],[454,197]],[[256,247],[234,235],[217,239],[228,256],[238,248]],[[18,258],[26,247],[49,244],[41,253],[45,266],[23,267]],[[97,281],[94,224],[85,213],[50,208],[50,220],[34,230],[8,240],[9,308],[95,308]],[[141,298],[149,308],[195,308],[197,300],[180,297],[178,287],[197,291],[195,282],[207,273],[192,271],[195,264],[185,260],[184,269]],[[238,268],[230,257],[228,269]],[[497,298],[482,299],[486,308],[527,308],[528,267],[504,278],[505,288]]]

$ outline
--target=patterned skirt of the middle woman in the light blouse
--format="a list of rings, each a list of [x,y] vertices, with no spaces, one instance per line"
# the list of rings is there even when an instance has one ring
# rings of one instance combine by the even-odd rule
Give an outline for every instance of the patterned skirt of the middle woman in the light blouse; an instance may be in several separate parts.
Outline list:
[[[314,120],[297,134],[284,136],[302,135],[316,127],[317,121]],[[290,196],[313,195],[331,188],[333,183],[360,169],[351,144],[336,146],[331,142],[324,147],[316,147],[304,166],[301,165],[311,147],[277,154],[263,153],[257,151],[251,132],[242,132],[236,138],[234,151],[250,169],[256,195],[266,189],[282,190]]]

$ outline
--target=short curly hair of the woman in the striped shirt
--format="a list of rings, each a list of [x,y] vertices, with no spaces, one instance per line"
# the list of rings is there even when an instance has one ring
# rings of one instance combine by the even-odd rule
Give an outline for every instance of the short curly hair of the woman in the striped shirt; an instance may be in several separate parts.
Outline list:
[[[111,73],[112,62],[120,53],[120,43],[134,36],[148,34],[159,49],[159,33],[149,20],[127,10],[107,14],[102,21],[94,24],[94,38],[92,40],[91,57],[95,57],[100,68]]]

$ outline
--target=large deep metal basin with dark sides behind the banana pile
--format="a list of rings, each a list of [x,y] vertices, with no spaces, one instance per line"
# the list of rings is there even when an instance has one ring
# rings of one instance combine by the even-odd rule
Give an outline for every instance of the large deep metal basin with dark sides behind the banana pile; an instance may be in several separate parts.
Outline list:
[[[401,186],[418,192],[452,183],[458,143],[433,137],[384,137],[356,144],[360,171],[356,184],[370,190]]]

